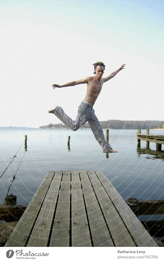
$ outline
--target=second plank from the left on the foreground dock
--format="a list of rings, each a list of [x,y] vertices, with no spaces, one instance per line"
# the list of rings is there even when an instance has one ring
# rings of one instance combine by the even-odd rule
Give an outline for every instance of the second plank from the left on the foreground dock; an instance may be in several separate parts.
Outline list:
[[[47,247],[61,178],[62,172],[56,171],[35,222],[35,226],[31,232],[27,246]]]

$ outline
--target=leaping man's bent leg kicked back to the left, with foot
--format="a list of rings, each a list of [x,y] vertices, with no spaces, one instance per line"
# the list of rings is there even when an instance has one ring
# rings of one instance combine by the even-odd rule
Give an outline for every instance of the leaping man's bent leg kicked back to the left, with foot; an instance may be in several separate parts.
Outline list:
[[[81,103],[78,107],[78,113],[75,120],[72,120],[60,106],[56,106],[55,109],[50,110],[49,113],[55,114],[68,128],[76,131],[90,118],[91,108],[88,107],[86,103]]]

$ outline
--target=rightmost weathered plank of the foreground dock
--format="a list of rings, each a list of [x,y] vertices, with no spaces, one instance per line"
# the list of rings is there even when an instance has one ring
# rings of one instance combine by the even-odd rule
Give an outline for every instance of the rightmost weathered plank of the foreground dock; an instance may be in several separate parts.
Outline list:
[[[133,238],[137,247],[157,247],[150,234],[142,226],[141,222],[135,216],[130,207],[126,204],[123,198],[121,198],[118,191],[110,183],[101,171],[96,171],[97,177],[100,179],[102,185],[105,187],[106,192],[109,194],[113,205],[116,207],[122,221],[127,227],[130,235]]]

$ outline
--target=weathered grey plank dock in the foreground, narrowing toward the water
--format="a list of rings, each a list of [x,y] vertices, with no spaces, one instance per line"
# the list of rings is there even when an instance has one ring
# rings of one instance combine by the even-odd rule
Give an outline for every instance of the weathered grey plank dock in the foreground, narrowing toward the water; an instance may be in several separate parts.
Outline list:
[[[5,247],[157,247],[101,171],[50,171]]]

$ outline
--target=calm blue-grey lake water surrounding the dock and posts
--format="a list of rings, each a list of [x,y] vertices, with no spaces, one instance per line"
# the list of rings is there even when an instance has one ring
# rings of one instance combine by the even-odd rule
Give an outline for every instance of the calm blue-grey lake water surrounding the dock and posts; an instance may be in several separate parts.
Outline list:
[[[150,134],[163,132],[150,130]],[[141,133],[146,134],[146,130]],[[146,141],[142,140],[141,150],[137,152],[136,134],[137,130],[109,130],[109,143],[119,152],[106,155],[88,129],[76,132],[68,129],[1,129],[0,174],[27,135],[27,152],[24,152],[23,144],[0,180],[1,204],[5,202],[11,175],[15,174],[19,164],[9,191],[17,196],[18,205],[30,202],[47,171],[52,170],[102,170],[125,200],[129,197],[164,199],[164,153],[154,154],[155,143],[150,143],[150,150],[146,150]],[[70,151],[68,135],[71,136]],[[142,216],[142,220],[147,217]],[[156,220],[162,216],[149,218]]]

